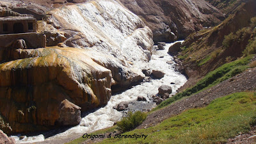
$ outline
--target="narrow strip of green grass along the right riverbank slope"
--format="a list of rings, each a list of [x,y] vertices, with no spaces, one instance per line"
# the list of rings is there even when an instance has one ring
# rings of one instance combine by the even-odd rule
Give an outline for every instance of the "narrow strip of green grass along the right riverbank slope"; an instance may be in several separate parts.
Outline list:
[[[243,59],[238,59],[236,61],[223,64],[223,66],[220,66],[214,71],[208,73],[204,78],[202,78],[202,80],[196,83],[195,86],[190,87],[183,92],[170,97],[169,99],[166,99],[166,101],[163,101],[163,103],[159,104],[156,108],[153,109],[153,111],[158,110],[159,108],[163,108],[164,106],[167,106],[174,101],[181,99],[182,97],[188,97],[191,96],[191,94],[195,94],[201,90],[208,89],[209,87],[212,87],[220,82],[223,82],[224,80],[227,80],[228,78],[243,72],[248,67],[246,65],[250,62],[252,57],[253,55],[249,55]]]

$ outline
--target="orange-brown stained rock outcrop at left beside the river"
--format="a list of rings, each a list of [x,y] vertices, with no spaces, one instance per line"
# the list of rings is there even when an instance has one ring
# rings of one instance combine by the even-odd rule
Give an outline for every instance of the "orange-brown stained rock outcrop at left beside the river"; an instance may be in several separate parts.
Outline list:
[[[90,50],[37,48],[16,52],[13,59],[17,60],[0,65],[0,112],[10,126],[5,133],[78,124],[79,107],[84,112],[108,103],[111,71],[94,62]],[[77,122],[68,123],[70,119]]]

